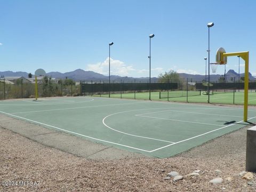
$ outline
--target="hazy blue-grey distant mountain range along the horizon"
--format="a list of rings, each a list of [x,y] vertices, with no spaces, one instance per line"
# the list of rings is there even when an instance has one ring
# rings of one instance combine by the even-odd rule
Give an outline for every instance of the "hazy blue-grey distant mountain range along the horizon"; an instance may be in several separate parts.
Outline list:
[[[73,79],[74,81],[108,81],[108,76],[95,73],[93,71],[84,71],[82,69],[76,69],[74,71],[70,71],[67,73],[60,73],[60,72],[50,72],[46,74],[47,76],[51,76],[53,78],[60,78],[60,79],[65,79],[65,78],[70,78]],[[26,72],[13,72],[13,71],[0,71],[0,77],[28,77],[28,73]],[[192,74],[186,74],[186,73],[180,73],[180,77],[183,77],[185,79],[189,78],[189,82],[201,82],[203,79],[205,79],[205,75],[192,75]],[[218,79],[223,75],[210,75],[211,79]],[[240,74],[241,77],[244,76],[244,74]],[[230,69],[226,73],[226,78],[230,79],[229,81],[232,81],[231,77],[238,77],[238,73],[236,73],[233,69]],[[256,79],[252,77],[252,74],[249,73],[250,79]],[[124,82],[131,82],[131,81],[136,81],[136,82],[148,82],[148,77],[141,77],[141,78],[134,78],[134,77],[121,77],[117,75],[111,75],[110,76],[111,81],[124,81]],[[208,78],[208,76],[206,76]],[[157,78],[153,77],[151,78],[151,82],[156,82]]]

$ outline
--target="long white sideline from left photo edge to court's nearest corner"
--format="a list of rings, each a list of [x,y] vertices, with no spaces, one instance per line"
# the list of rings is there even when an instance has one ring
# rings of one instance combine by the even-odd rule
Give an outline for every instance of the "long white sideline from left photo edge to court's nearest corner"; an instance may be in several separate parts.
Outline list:
[[[12,114],[9,114],[9,113],[5,113],[5,112],[3,112],[3,111],[0,111],[0,113],[6,114],[6,115],[10,115],[10,116],[13,116],[13,117],[18,117],[18,118],[21,118],[21,119],[25,119],[25,120],[27,120],[27,121],[34,122],[34,123],[38,123],[38,124],[41,124],[41,125],[53,127],[54,129],[58,129],[58,130],[65,131],[65,132],[68,132],[68,133],[77,134],[77,135],[80,135],[80,136],[82,136],[82,137],[94,139],[94,140],[97,140],[97,141],[103,141],[103,142],[107,142],[107,143],[111,143],[111,144],[115,144],[115,145],[119,145],[119,146],[131,148],[131,149],[137,149],[137,150],[141,150],[141,151],[145,151],[145,152],[150,152],[149,150],[139,149],[139,148],[135,148],[135,147],[131,147],[131,146],[126,146],[126,145],[122,145],[122,144],[115,143],[115,142],[111,142],[111,141],[106,141],[106,140],[102,140],[102,139],[93,138],[93,137],[90,137],[90,136],[87,136],[87,135],[83,135],[83,134],[80,134],[80,133],[76,133],[76,132],[73,132],[73,131],[68,131],[68,130],[65,130],[65,129],[61,129],[61,128],[56,127],[56,126],[52,126],[52,125],[48,125],[48,124],[45,124],[45,123],[33,121],[33,120],[31,120],[31,119],[28,119],[28,118],[24,118],[24,117],[20,117],[20,116],[17,116],[17,115],[12,115]]]

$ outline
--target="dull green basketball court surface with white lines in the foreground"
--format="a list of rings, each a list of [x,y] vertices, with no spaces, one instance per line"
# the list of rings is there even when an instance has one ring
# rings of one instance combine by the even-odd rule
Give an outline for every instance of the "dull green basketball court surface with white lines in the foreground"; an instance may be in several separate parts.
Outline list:
[[[250,124],[243,122],[242,107],[195,103],[70,97],[5,100],[0,108],[48,129],[159,158]],[[249,108],[248,117],[254,122],[256,110]]]

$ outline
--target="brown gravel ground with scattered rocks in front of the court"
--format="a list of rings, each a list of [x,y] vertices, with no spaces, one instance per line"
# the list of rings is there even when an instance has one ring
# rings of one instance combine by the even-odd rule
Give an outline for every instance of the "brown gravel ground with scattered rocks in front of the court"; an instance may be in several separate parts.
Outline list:
[[[256,191],[255,174],[251,183],[239,176],[245,170],[247,128],[171,158],[90,160],[1,127],[0,181],[39,184],[0,186],[0,191]],[[164,180],[171,171],[185,176],[194,170],[201,170],[199,176]],[[209,182],[217,177],[221,184]]]

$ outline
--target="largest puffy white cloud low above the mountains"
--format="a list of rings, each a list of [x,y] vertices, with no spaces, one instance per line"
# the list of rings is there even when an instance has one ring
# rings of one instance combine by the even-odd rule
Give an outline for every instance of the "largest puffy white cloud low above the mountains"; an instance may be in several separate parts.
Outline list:
[[[91,70],[96,73],[108,75],[109,58],[103,62],[87,65],[86,70]],[[110,58],[110,75],[129,76],[131,71],[135,71],[132,66],[126,66],[123,61]]]

